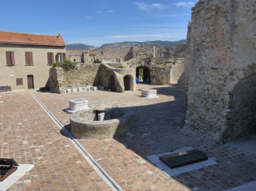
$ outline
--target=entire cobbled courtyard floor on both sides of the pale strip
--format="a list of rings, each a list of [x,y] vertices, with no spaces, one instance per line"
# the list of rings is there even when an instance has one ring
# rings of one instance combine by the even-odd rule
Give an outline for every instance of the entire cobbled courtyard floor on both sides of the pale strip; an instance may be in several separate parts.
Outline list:
[[[126,91],[124,93],[97,90],[62,95],[45,92],[34,92],[34,94],[68,130],[70,129],[70,114],[64,111],[69,107],[69,99],[85,98],[89,101],[88,106],[92,109],[122,107],[123,110],[134,113],[134,128],[121,137],[106,140],[79,139],[80,144],[123,190],[224,191],[256,180],[255,154],[232,146],[216,144],[213,139],[208,138],[206,135],[182,129],[185,109],[183,91],[171,86],[137,85],[136,88],[136,91]],[[147,99],[140,97],[140,89],[148,88],[157,89],[159,98]],[[3,97],[0,97],[0,101],[2,99],[4,103],[0,103],[0,119],[3,118],[4,124],[2,126],[5,127],[4,129],[3,127],[1,128],[5,133],[2,139],[12,136],[12,138],[2,141],[10,144],[2,145],[2,155],[4,157],[14,157],[15,159],[17,157],[17,162],[34,163],[36,166],[34,171],[29,172],[9,190],[15,190],[15,188],[17,190],[18,188],[21,189],[21,187],[25,189],[27,184],[31,184],[34,181],[38,184],[36,188],[41,188],[41,185],[47,185],[47,181],[50,181],[50,186],[56,186],[53,183],[54,179],[49,174],[49,172],[54,173],[57,180],[63,176],[63,173],[60,175],[61,172],[58,173],[59,171],[54,170],[56,166],[59,167],[58,169],[64,167],[66,171],[72,170],[73,168],[70,169],[69,167],[74,166],[83,175],[82,177],[76,175],[77,178],[80,177],[78,180],[81,180],[77,184],[75,182],[71,184],[66,181],[67,187],[65,186],[65,188],[67,190],[71,190],[70,188],[79,189],[77,187],[79,183],[81,189],[83,185],[90,184],[95,180],[93,176],[96,176],[98,181],[101,180],[96,174],[88,173],[89,171],[86,170],[90,168],[87,166],[88,163],[79,152],[72,148],[73,145],[68,142],[68,138],[59,132],[55,123],[49,119],[28,92],[2,93],[1,95]],[[17,110],[16,101],[10,100],[12,97],[15,97],[14,100],[18,99],[19,104],[23,104],[19,105],[20,111],[18,111],[19,109]],[[22,102],[24,99],[27,102],[25,105]],[[29,104],[29,101],[31,104]],[[5,108],[2,108],[1,104],[5,104]],[[12,109],[10,110],[10,108]],[[25,119],[31,123],[24,123]],[[37,125],[39,123],[37,122],[38,120],[40,125]],[[24,123],[26,127],[24,129],[20,128],[19,123],[22,125]],[[10,129],[9,131],[12,133],[10,134],[6,128]],[[27,141],[29,144],[26,146],[23,141]],[[18,146],[14,144],[17,142]],[[48,144],[49,142],[53,142],[53,144]],[[66,148],[63,145],[69,145],[69,147]],[[45,159],[40,158],[41,161],[38,161],[38,157],[41,155],[36,155],[34,148],[29,148],[30,146],[38,147],[42,150],[47,149],[47,147],[54,147],[47,149],[48,152],[45,151],[45,155],[42,155],[43,157],[46,156],[46,158],[49,157],[48,155],[52,156],[51,160],[47,158],[49,166],[43,163]],[[214,158],[217,164],[169,177],[147,160],[149,155],[166,153],[187,146],[202,150],[209,157]],[[14,148],[15,155],[12,151]],[[52,150],[54,150],[54,154],[51,153]],[[32,152],[33,154],[29,155],[30,158],[27,159],[27,153]],[[79,159],[74,159],[74,155]],[[62,157],[67,161],[73,159],[68,161],[68,167],[62,161],[61,164],[55,164],[56,160],[60,162]],[[80,160],[82,163],[77,164],[76,160]],[[84,167],[81,169],[79,168],[80,166]],[[42,170],[43,167],[44,169]],[[46,171],[45,174],[43,173],[44,171]],[[91,177],[88,178],[87,176]],[[48,179],[47,181],[43,179],[45,182],[41,183],[39,177],[47,177]],[[31,182],[26,183],[29,180]],[[82,181],[85,182],[85,180],[89,182],[83,184]],[[101,184],[104,182],[98,181],[93,182],[94,188],[89,188],[88,190],[96,188],[103,190]],[[64,186],[63,184],[61,185]],[[106,187],[106,189],[109,188]],[[51,189],[48,188],[48,190]],[[55,187],[52,187],[52,190],[55,190]]]

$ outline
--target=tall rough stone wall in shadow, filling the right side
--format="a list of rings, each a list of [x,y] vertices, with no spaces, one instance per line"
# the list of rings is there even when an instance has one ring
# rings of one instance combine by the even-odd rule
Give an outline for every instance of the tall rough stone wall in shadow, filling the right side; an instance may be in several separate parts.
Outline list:
[[[185,128],[227,142],[256,131],[256,6],[200,0],[188,27]]]

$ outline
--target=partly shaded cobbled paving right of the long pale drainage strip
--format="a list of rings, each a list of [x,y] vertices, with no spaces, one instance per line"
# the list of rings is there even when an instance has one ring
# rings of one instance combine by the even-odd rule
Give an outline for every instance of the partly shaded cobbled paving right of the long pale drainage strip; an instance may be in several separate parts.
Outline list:
[[[70,130],[69,99],[85,98],[92,109],[120,107],[134,113],[134,128],[107,140],[79,139],[80,144],[123,190],[224,191],[256,180],[255,154],[220,145],[207,135],[183,130],[184,94],[171,86],[136,85],[136,91],[50,94],[36,92],[42,103]],[[157,89],[157,99],[140,97],[141,89]],[[202,150],[217,164],[169,177],[147,156],[183,147]],[[167,169],[166,169],[167,170]]]

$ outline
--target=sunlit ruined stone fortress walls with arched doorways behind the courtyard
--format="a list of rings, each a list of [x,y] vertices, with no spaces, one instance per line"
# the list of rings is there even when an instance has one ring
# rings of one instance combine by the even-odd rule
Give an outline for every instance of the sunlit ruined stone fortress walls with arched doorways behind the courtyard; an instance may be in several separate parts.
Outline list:
[[[50,69],[50,89],[61,93],[69,87],[104,86],[108,89],[109,76],[114,75],[116,91],[124,91],[124,76],[130,77],[130,90],[135,90],[136,68],[147,67],[150,70],[151,83],[170,85],[177,82],[183,72],[184,59],[177,58],[173,63],[170,49],[176,50],[182,57],[183,47],[157,48],[154,46],[133,46],[132,48],[104,48],[103,50],[67,50],[67,58],[78,63],[76,68],[63,70]],[[165,57],[156,57],[164,53]],[[92,59],[93,58],[93,59]],[[95,64],[92,60],[99,59],[103,63]],[[116,62],[120,59],[120,63]]]

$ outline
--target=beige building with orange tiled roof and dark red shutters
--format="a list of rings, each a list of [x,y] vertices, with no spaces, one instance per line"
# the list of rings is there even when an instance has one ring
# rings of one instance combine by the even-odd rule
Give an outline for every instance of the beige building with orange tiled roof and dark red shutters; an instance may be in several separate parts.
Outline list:
[[[49,87],[49,68],[66,59],[60,35],[0,31],[0,91]]]

